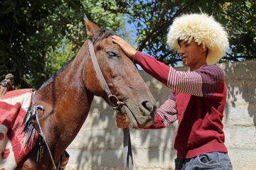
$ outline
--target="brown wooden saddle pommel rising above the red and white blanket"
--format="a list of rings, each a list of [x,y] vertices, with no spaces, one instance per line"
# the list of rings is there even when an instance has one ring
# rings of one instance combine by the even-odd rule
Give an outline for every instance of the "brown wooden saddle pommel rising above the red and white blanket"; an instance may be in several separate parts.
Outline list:
[[[7,91],[14,90],[12,87],[14,81],[14,75],[13,74],[6,74],[6,77],[4,80],[0,83],[0,99],[6,94]]]

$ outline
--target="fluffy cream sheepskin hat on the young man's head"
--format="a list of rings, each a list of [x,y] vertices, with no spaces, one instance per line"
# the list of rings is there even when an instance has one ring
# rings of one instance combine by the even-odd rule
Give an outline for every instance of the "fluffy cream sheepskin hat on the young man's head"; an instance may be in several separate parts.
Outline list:
[[[215,64],[225,55],[228,49],[228,35],[213,16],[206,13],[185,14],[174,19],[167,35],[167,44],[179,52],[178,40],[192,38],[203,47],[208,47],[207,64]]]

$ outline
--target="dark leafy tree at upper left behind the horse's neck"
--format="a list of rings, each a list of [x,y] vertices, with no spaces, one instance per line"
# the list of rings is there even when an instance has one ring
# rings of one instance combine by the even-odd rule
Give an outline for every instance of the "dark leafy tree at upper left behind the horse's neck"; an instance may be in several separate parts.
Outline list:
[[[69,60],[87,35],[83,13],[98,26],[124,29],[100,1],[4,0],[0,2],[0,79],[14,74],[16,88],[38,88]]]

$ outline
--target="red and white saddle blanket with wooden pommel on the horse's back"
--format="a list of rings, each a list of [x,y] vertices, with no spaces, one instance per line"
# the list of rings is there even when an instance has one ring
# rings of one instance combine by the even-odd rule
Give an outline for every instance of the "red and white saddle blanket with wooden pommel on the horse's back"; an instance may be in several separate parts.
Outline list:
[[[28,126],[26,128],[29,132],[28,136],[24,135],[26,129],[23,129],[23,121],[26,120],[27,109],[31,105],[32,89],[13,91],[13,80],[14,76],[7,74],[5,79],[0,82],[0,169],[6,170],[15,169],[32,147],[39,146],[36,144],[38,132],[34,127]],[[7,92],[9,93],[6,94]],[[21,98],[21,95],[25,95],[25,99],[16,101],[17,98]],[[27,142],[23,143],[23,141]],[[68,159],[68,152],[63,152],[58,164],[56,164],[57,169],[65,169]]]

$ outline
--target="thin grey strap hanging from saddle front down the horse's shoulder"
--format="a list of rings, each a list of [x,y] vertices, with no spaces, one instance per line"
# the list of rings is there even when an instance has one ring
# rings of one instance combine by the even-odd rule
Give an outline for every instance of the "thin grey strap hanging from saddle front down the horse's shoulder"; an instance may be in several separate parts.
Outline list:
[[[55,166],[55,164],[54,164],[54,161],[53,161],[53,156],[52,156],[52,154],[50,153],[50,148],[48,147],[48,144],[47,144],[47,142],[46,142],[45,135],[43,135],[43,131],[42,131],[41,125],[40,125],[40,123],[39,123],[39,117],[38,117],[38,112],[37,112],[37,110],[40,109],[41,111],[44,111],[44,109],[43,109],[43,106],[36,106],[35,94],[36,94],[36,91],[33,91],[33,115],[36,116],[36,121],[37,121],[37,123],[38,123],[38,128],[39,128],[39,135],[41,135],[41,137],[43,138],[43,142],[44,142],[45,145],[46,145],[46,149],[47,149],[48,154],[49,154],[49,156],[50,156],[50,162],[51,162],[51,164],[53,165],[53,169],[54,169],[54,170],[57,170],[57,168],[56,168],[56,166]]]

